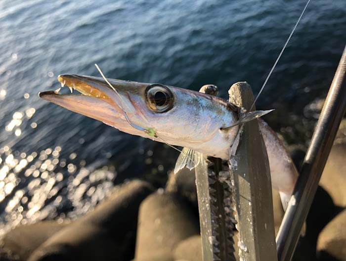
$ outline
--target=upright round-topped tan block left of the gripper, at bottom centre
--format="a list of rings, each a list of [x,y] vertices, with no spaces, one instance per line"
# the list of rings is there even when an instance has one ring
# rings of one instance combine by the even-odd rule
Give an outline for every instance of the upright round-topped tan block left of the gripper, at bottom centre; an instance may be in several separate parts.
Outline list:
[[[197,218],[181,197],[155,193],[140,206],[135,260],[173,261],[177,244],[198,234]]]

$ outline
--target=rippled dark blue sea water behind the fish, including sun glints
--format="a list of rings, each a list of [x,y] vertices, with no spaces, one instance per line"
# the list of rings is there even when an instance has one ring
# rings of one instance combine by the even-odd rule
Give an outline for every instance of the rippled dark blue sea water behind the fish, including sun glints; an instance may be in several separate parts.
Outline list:
[[[0,229],[76,218],[114,184],[164,184],[177,153],[38,97],[58,74],[159,82],[220,95],[257,93],[305,0],[0,2]],[[323,98],[346,43],[345,0],[312,0],[258,108],[290,143],[306,143],[304,107]],[[66,90],[64,90],[66,91]],[[103,168],[102,168],[103,167]],[[100,169],[101,168],[101,169]],[[114,174],[115,173],[115,174]]]

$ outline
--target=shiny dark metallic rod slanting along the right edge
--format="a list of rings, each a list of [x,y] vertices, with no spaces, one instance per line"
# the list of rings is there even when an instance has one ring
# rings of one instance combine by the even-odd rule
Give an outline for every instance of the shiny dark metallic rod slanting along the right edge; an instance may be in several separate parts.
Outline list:
[[[346,111],[346,46],[307,149],[293,196],[276,237],[278,261],[291,261],[303,223]]]

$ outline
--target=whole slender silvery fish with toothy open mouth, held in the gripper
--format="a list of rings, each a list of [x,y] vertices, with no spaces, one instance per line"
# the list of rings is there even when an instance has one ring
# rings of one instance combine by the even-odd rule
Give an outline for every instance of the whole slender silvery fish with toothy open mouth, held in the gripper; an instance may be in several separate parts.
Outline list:
[[[58,89],[42,92],[40,97],[132,135],[186,147],[190,150],[185,149],[183,155],[194,164],[198,161],[191,150],[228,160],[239,124],[269,112],[252,112],[238,119],[235,106],[221,98],[162,84],[71,74],[59,75],[58,80],[82,95],[60,95]],[[286,208],[298,172],[275,132],[262,120],[259,127],[272,187]]]

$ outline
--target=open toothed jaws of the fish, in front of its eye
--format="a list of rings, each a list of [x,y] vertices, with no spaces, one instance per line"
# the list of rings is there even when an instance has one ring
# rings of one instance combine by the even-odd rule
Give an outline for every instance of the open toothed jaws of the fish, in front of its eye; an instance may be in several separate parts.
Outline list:
[[[62,87],[68,86],[71,94],[59,94],[59,88],[41,92],[40,98],[130,134],[141,134],[129,125],[124,111],[129,115],[137,113],[131,95],[144,92],[147,84],[109,79],[109,86],[103,78],[75,74],[59,75],[58,81]]]

